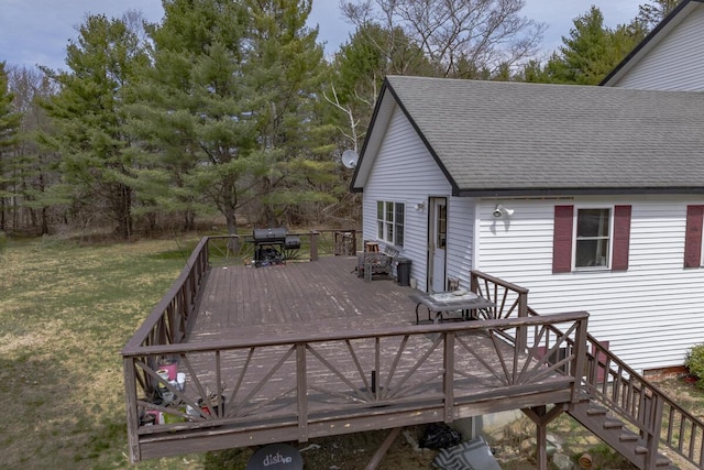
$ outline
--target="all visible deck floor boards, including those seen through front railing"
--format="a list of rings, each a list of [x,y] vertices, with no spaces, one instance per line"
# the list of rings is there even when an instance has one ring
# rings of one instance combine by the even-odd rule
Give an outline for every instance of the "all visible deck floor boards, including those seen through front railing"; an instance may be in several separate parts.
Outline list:
[[[336,256],[267,267],[215,267],[204,287],[205,295],[198,308],[197,320],[187,341],[271,339],[287,335],[373,330],[384,326],[415,324],[416,304],[408,298],[414,289],[399,286],[392,280],[364,282],[354,273],[355,265],[354,256]],[[397,380],[429,350],[433,337],[411,336],[399,353],[400,341],[400,337],[395,337],[381,343],[383,371],[392,369],[391,362],[396,354],[399,356],[398,370],[395,372]],[[486,336],[473,334],[468,342],[472,345],[475,354],[493,362],[495,370],[502,369],[495,345]],[[352,345],[359,362],[374,363],[373,339],[353,340]],[[349,380],[363,380],[343,341],[319,342],[314,349],[321,351],[324,359],[333,363]],[[286,347],[270,348],[266,352],[257,350],[243,389],[254,386],[271,369],[271,363],[280,358],[283,351],[286,351]],[[459,346],[455,351],[462,352]],[[234,376],[243,368],[246,352],[230,351],[222,356],[223,371],[229,371],[229,376]],[[504,353],[509,358],[513,350],[506,345]],[[312,385],[331,386],[334,382],[342,389],[345,387],[327,365],[310,358],[308,369],[315,372],[310,380]],[[442,348],[439,347],[416,371],[409,386],[437,378],[442,360]],[[468,386],[476,387],[477,392],[496,386],[496,378],[474,356],[457,353],[455,360],[455,367],[470,378]],[[204,358],[204,361],[195,365],[201,371],[213,369],[210,359]],[[279,393],[290,386],[286,383],[287,378],[290,378],[292,384],[295,383],[295,354],[292,354],[276,378],[272,379],[273,384],[279,385],[273,386],[272,393]],[[204,376],[207,376],[207,372]]]

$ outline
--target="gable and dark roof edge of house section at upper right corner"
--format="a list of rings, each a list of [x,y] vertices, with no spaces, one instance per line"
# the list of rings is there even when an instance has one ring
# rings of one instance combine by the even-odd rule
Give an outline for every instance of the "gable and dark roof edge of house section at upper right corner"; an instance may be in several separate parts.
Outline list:
[[[601,85],[704,90],[704,1],[682,0]]]

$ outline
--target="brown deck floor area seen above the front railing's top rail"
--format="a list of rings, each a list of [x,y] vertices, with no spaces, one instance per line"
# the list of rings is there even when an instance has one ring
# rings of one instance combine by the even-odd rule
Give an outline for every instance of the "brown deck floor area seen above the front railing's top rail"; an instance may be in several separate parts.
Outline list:
[[[393,280],[364,282],[355,266],[354,256],[328,256],[267,267],[213,267],[188,341],[415,323],[410,287]]]

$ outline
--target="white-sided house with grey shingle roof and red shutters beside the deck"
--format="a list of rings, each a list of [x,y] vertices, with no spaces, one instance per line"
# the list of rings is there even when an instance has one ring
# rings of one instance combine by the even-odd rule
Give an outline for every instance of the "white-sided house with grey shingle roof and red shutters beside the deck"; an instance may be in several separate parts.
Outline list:
[[[421,291],[481,270],[636,370],[704,339],[704,94],[389,76],[351,182]]]

